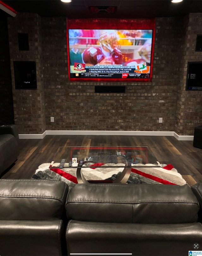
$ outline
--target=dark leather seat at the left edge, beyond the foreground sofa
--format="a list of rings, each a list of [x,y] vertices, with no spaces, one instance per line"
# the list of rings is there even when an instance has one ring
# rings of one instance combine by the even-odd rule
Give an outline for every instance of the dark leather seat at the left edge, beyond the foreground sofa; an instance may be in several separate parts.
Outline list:
[[[17,160],[19,136],[15,125],[0,126],[0,175]]]

